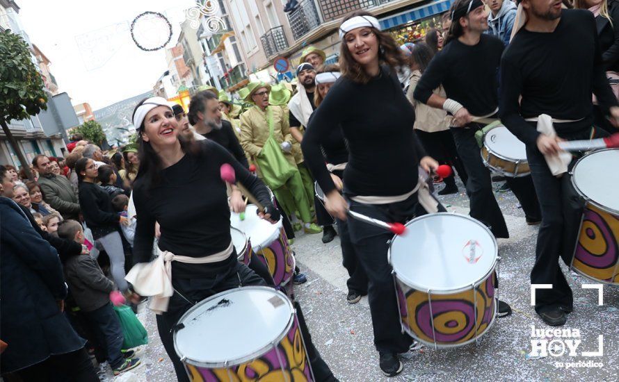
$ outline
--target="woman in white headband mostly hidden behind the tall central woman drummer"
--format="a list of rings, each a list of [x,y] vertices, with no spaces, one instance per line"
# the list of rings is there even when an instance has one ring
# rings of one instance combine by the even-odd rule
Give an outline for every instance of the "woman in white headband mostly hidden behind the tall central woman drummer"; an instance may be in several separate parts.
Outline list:
[[[314,93],[314,105],[316,105],[316,108],[320,106],[339,76],[338,65],[325,65],[316,71],[316,92]],[[310,117],[311,120],[312,117]],[[341,191],[341,179],[344,178],[344,168],[346,168],[346,163],[348,163],[348,148],[346,147],[344,135],[341,133],[341,128],[333,128],[323,136],[321,149],[335,187]],[[348,294],[346,301],[348,301],[348,304],[356,304],[361,300],[362,296],[367,294],[367,274],[359,262],[359,256],[355,253],[355,247],[353,247],[351,242],[351,235],[348,232],[346,220],[336,220],[341,256],[344,260],[343,265],[348,271],[348,280],[346,281]]]

